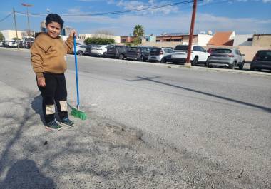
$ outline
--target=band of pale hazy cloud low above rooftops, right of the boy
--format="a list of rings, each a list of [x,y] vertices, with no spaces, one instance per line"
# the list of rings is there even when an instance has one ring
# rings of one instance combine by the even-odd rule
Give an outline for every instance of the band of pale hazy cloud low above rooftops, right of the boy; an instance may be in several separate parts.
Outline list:
[[[73,16],[63,18],[71,23],[85,23],[91,29],[84,33],[97,31],[97,29],[110,29],[116,35],[133,33],[133,27],[141,24],[146,34],[162,34],[163,32],[188,32],[190,29],[190,13],[178,14],[148,14],[148,15],[120,15],[116,18],[109,16]],[[100,27],[100,28],[97,28]],[[252,18],[228,18],[213,14],[197,14],[195,31],[236,31],[237,34],[252,34],[258,32],[271,33],[271,19],[260,20]]]

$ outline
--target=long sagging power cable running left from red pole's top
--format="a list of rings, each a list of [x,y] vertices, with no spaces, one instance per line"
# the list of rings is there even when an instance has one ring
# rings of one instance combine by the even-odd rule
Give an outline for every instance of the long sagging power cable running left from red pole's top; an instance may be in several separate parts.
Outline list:
[[[199,0],[203,1],[203,0]],[[61,14],[61,16],[102,16],[102,15],[109,15],[109,14],[123,14],[123,13],[130,13],[130,12],[136,12],[136,11],[147,11],[151,9],[163,9],[165,7],[169,6],[177,6],[180,4],[191,4],[193,3],[193,0],[190,1],[180,1],[172,4],[164,4],[164,5],[159,5],[159,6],[150,6],[150,7],[145,7],[145,8],[140,8],[140,9],[127,9],[127,10],[122,10],[122,11],[112,11],[112,12],[101,12],[101,13],[96,13],[96,14]],[[16,11],[18,14],[25,14],[24,12],[19,12]],[[46,16],[46,14],[29,14],[33,16]]]

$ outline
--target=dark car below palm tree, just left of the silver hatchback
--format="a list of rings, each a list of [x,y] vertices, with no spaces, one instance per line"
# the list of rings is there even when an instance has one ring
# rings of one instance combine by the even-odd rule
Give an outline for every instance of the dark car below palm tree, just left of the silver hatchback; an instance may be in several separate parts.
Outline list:
[[[135,46],[127,52],[127,59],[137,61],[147,61],[151,46]]]

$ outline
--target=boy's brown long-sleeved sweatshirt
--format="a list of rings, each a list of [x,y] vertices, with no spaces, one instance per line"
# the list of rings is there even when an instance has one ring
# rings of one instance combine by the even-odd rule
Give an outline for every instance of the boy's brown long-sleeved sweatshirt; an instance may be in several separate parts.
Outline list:
[[[54,39],[47,33],[36,37],[31,47],[31,62],[36,76],[44,72],[64,73],[67,69],[66,55],[73,52],[73,37],[64,42],[60,37]]]

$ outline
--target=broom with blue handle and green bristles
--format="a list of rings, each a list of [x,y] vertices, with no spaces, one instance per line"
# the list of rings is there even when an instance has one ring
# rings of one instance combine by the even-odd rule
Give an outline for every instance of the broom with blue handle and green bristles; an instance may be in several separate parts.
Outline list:
[[[78,70],[77,70],[77,56],[76,56],[76,36],[73,35],[73,47],[74,47],[74,58],[76,63],[76,91],[77,91],[77,107],[73,107],[68,103],[68,106],[71,108],[71,115],[81,120],[86,120],[86,113],[80,110],[80,101],[79,101],[79,86],[78,86]]]

